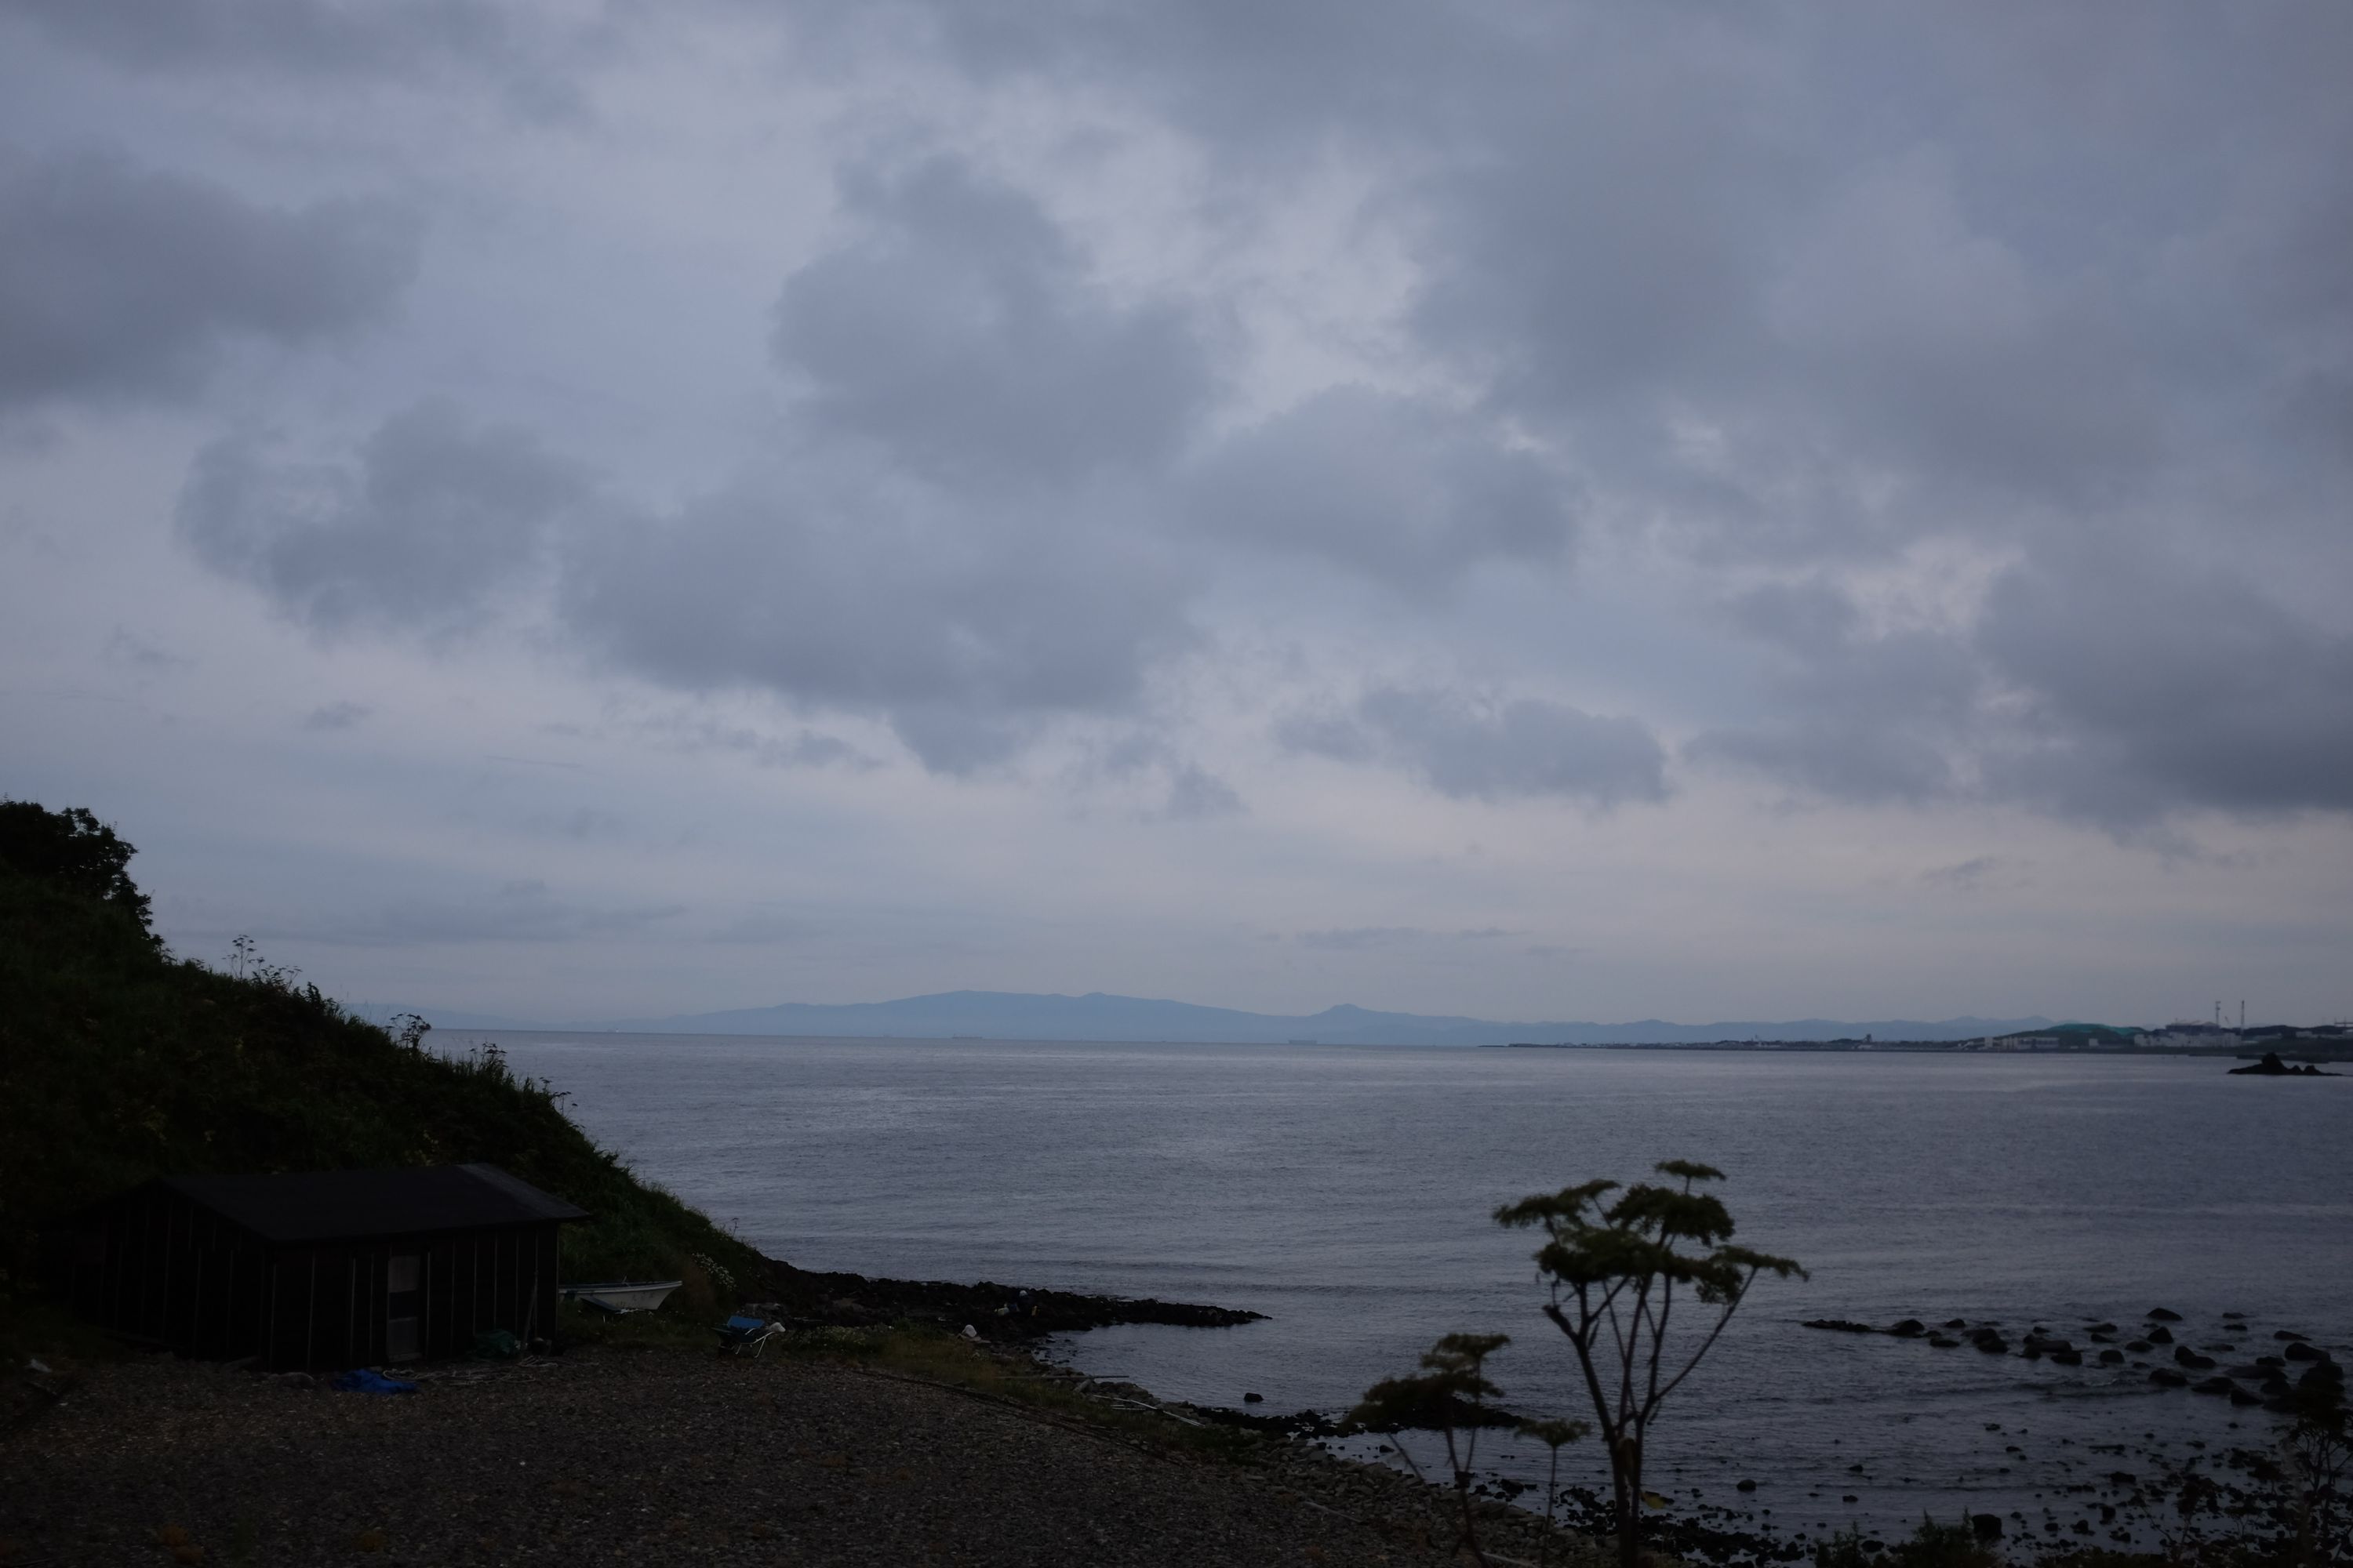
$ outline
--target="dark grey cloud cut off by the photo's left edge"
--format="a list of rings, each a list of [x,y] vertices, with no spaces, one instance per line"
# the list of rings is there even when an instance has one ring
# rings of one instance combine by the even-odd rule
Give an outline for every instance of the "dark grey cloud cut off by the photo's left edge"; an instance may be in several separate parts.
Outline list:
[[[0,150],[0,409],[181,397],[233,343],[381,317],[416,270],[393,207],[261,207],[108,153]]]

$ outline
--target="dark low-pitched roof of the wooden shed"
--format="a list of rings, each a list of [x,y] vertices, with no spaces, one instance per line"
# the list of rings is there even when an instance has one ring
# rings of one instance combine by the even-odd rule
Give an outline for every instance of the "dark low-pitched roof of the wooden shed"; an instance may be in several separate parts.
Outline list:
[[[348,1241],[588,1218],[586,1208],[574,1208],[485,1164],[301,1175],[167,1175],[158,1185],[264,1241]]]

